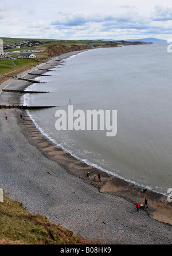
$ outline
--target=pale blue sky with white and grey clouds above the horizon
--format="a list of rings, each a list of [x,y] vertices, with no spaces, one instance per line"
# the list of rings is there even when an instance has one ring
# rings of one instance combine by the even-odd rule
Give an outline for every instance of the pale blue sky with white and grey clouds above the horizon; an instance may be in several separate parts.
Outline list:
[[[172,38],[172,0],[0,0],[1,37]]]

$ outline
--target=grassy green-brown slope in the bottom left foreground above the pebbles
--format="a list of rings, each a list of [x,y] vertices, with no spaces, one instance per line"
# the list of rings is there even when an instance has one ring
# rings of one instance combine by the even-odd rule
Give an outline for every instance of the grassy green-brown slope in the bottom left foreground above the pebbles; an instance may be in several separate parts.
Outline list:
[[[4,196],[0,202],[0,244],[93,244],[43,215],[33,215],[22,204]]]

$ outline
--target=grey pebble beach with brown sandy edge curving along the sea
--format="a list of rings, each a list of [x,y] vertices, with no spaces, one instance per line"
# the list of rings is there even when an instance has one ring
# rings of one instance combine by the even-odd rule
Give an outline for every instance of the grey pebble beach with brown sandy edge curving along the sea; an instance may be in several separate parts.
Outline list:
[[[57,59],[77,53],[52,58],[39,67],[48,70],[57,66]],[[28,72],[46,72],[37,68],[26,71],[25,78],[37,77]],[[32,84],[15,79],[8,83],[2,83],[1,90],[24,90]],[[0,100],[1,105],[22,105],[20,93],[2,91]],[[0,118],[0,188],[29,212],[101,244],[172,243],[172,204],[167,197],[143,192],[138,185],[77,160],[42,135],[25,110],[1,109]],[[148,208],[137,211],[136,202],[144,205],[145,197]]]

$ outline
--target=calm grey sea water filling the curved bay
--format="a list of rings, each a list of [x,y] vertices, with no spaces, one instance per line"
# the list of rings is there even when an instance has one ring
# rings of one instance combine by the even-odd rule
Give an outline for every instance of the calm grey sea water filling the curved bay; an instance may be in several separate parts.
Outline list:
[[[72,155],[118,177],[167,194],[172,187],[172,54],[167,44],[100,48],[66,59],[25,94],[40,131]],[[117,110],[118,131],[57,131],[56,110]]]

